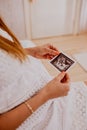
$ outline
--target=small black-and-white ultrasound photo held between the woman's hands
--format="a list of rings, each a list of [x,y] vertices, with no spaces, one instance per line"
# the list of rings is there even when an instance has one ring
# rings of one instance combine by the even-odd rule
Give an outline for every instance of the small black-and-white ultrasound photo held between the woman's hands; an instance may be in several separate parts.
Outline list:
[[[67,71],[74,64],[74,61],[65,54],[60,53],[50,63],[62,72]]]

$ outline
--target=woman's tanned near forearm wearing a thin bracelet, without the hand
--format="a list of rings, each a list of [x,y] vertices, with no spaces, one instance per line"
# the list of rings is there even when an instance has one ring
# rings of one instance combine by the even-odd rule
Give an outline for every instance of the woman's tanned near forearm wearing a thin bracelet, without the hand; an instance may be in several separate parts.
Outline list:
[[[38,95],[27,100],[27,102],[32,106],[33,110],[35,111],[47,100],[48,98],[45,93],[41,92]],[[31,114],[32,113],[31,111],[29,111],[27,106],[22,103],[13,110],[0,115],[0,130],[15,130]]]

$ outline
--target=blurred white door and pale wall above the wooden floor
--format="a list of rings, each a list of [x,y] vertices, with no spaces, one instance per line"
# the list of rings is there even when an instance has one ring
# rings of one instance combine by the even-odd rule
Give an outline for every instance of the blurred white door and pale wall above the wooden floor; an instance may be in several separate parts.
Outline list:
[[[0,0],[0,14],[19,39],[87,32],[87,0]]]

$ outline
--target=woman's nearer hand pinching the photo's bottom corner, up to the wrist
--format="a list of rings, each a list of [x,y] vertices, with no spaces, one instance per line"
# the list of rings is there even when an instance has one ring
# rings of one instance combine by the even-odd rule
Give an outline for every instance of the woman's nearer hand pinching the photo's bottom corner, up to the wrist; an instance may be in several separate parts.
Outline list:
[[[66,96],[69,92],[70,78],[65,72],[60,73],[42,89],[47,99]]]

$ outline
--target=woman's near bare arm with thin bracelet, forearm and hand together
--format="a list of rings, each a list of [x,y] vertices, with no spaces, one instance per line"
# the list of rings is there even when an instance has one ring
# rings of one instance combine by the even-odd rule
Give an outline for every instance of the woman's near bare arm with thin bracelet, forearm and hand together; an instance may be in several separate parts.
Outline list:
[[[64,77],[66,77],[66,81],[64,80],[63,82]],[[36,111],[46,101],[66,96],[69,91],[69,82],[68,74],[62,72],[47,83],[36,95],[28,99],[27,103],[32,106],[33,111]],[[15,130],[31,114],[31,111],[24,103],[20,104],[16,108],[0,115],[0,130]]]

